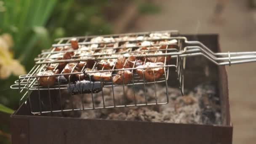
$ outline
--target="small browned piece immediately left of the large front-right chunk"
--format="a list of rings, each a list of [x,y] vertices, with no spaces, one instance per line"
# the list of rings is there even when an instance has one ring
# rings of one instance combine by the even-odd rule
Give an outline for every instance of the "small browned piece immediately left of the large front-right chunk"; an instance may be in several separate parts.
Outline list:
[[[129,70],[119,71],[117,72],[117,75],[113,77],[113,83],[114,84],[128,84],[132,80],[132,73]]]

